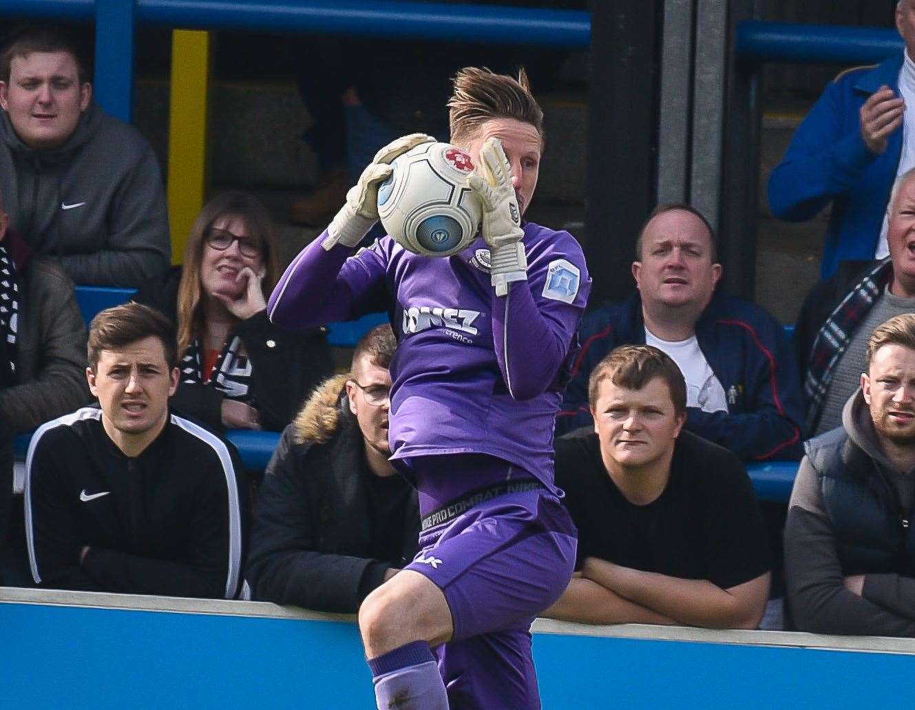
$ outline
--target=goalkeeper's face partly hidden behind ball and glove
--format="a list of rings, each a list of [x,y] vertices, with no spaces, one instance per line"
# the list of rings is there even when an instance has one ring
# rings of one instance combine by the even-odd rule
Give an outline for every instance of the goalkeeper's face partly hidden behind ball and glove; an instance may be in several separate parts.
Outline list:
[[[543,138],[531,124],[514,118],[492,118],[479,126],[468,145],[461,146],[475,163],[479,163],[479,149],[487,138],[498,138],[502,142],[505,156],[511,164],[511,187],[518,198],[518,207],[524,214],[533,199],[533,191],[537,188]]]

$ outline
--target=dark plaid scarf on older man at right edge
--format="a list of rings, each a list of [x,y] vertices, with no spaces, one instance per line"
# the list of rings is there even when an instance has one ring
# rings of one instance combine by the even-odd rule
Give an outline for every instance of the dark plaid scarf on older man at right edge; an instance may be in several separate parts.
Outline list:
[[[810,354],[810,365],[804,378],[803,390],[810,406],[807,409],[807,431],[816,429],[823,414],[823,400],[830,382],[833,382],[835,367],[858,325],[867,317],[884,288],[893,278],[893,264],[885,259],[865,275],[847,296],[842,300],[830,317],[826,318],[823,328],[813,340]]]

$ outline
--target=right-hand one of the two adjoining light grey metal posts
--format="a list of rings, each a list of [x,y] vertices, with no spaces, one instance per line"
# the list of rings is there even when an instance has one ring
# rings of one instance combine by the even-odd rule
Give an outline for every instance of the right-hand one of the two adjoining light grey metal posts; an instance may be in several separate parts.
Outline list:
[[[727,0],[697,0],[690,201],[717,230],[727,81]]]

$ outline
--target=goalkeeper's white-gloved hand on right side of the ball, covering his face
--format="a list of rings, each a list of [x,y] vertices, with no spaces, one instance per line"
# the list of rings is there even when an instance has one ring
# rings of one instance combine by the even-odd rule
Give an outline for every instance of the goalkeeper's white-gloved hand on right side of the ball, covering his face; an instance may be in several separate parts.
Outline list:
[[[496,296],[507,296],[512,281],[527,280],[521,210],[511,185],[511,164],[501,141],[488,138],[479,149],[479,172],[471,173],[470,188],[483,203],[483,241],[490,247],[490,274]]]

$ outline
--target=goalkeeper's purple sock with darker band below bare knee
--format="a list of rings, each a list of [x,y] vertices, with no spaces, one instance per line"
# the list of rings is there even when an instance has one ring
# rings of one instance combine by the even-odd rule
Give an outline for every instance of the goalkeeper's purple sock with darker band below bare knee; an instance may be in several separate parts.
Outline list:
[[[379,710],[448,710],[445,683],[425,641],[414,641],[370,659]]]

